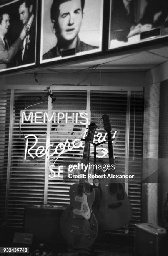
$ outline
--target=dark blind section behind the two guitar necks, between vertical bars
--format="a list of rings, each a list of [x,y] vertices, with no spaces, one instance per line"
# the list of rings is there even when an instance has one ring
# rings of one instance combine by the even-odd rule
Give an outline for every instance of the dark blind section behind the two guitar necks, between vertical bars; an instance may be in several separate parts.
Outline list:
[[[101,120],[101,116],[104,114],[109,116],[112,135],[117,130],[117,139],[113,143],[115,170],[124,173],[127,92],[91,92],[90,106],[91,120],[98,125],[103,135],[106,133]],[[103,144],[103,148],[108,150],[108,143]],[[108,155],[105,158],[108,158]],[[120,228],[113,232],[125,233],[125,229]]]

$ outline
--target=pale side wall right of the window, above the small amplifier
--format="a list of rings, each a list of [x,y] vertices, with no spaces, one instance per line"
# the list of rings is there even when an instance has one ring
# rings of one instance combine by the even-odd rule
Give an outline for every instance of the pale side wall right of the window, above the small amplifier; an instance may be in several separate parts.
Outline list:
[[[146,72],[143,157],[168,158],[167,70],[168,62],[165,62]],[[164,161],[164,164],[158,161],[158,165],[155,166],[155,170],[158,170],[156,174],[159,183],[154,183],[151,178],[151,183],[143,184],[143,220],[162,226],[162,205],[168,191],[168,175],[165,173],[167,163]],[[145,171],[143,169],[143,172]],[[153,170],[151,172],[153,173]],[[147,212],[145,207],[148,209]]]

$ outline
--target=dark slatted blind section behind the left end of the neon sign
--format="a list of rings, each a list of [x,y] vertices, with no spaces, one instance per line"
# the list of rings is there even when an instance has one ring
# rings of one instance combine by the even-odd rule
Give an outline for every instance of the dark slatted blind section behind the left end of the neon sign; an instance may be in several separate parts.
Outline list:
[[[43,91],[15,90],[8,226],[23,226],[23,210],[26,205],[43,204],[45,158],[32,159],[28,156],[24,160],[24,136],[34,134],[38,137],[39,144],[45,146],[46,123],[34,124],[30,123],[30,120],[24,120],[23,124],[20,122],[20,111],[25,108],[27,108],[26,113],[28,114],[37,108],[38,111],[47,111],[48,102],[45,101],[48,101],[48,97],[41,100],[39,99],[41,95],[44,95]],[[35,105],[39,102],[44,103]],[[33,144],[34,139],[32,138],[28,147],[30,148],[30,145]],[[35,149],[33,148],[33,156],[35,156]]]

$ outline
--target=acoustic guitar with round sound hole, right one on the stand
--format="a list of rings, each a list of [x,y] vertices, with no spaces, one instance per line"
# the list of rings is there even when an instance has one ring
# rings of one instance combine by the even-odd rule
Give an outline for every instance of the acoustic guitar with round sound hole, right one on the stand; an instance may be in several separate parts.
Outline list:
[[[111,136],[111,125],[108,115],[102,116],[104,129],[107,131],[108,136],[108,153],[109,164],[114,163],[113,144]],[[108,174],[123,175],[122,172],[109,170],[105,172],[106,177]],[[99,213],[102,218],[103,229],[105,231],[115,230],[128,224],[131,218],[131,205],[125,192],[124,179],[104,179],[100,182],[101,201]]]

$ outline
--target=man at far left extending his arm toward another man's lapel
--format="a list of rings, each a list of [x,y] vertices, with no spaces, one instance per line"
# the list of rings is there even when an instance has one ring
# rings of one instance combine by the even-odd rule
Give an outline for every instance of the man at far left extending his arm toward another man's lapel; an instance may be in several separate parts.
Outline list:
[[[22,40],[26,36],[26,28],[24,28],[19,38],[9,47],[7,38],[5,37],[10,26],[10,17],[8,13],[0,13],[0,69],[6,69],[7,63],[15,56],[17,51],[22,48]]]

